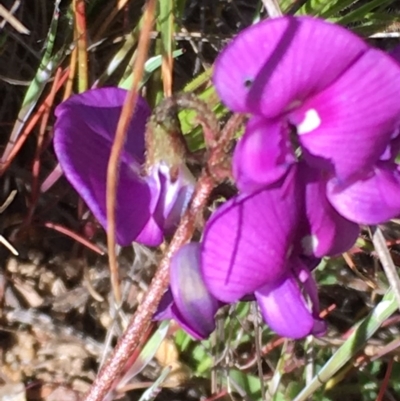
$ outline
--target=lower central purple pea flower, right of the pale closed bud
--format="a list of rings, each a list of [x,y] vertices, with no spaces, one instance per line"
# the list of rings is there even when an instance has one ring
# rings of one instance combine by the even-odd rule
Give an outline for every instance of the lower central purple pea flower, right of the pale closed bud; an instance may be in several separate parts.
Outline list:
[[[291,338],[323,331],[310,271],[323,253],[347,249],[358,234],[354,225],[337,235],[340,224],[331,221],[347,221],[314,196],[318,181],[309,177],[309,185],[303,185],[301,173],[293,168],[278,185],[225,202],[208,221],[201,249],[211,294],[236,302],[254,293],[265,321]],[[321,202],[321,209],[306,219],[306,204],[313,210],[313,202]]]

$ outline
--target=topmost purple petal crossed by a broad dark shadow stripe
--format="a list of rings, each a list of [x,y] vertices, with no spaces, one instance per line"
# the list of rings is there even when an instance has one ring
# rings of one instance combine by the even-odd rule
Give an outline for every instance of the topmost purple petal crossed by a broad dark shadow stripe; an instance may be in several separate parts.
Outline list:
[[[274,118],[327,88],[368,48],[347,29],[323,20],[265,20],[224,49],[214,83],[233,111]]]

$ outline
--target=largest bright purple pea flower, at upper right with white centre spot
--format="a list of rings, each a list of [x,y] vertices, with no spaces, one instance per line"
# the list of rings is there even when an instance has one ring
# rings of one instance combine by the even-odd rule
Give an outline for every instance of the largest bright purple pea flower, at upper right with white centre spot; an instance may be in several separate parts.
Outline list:
[[[399,196],[388,201],[376,190],[400,190],[394,157],[385,159],[400,125],[400,66],[391,56],[340,26],[283,17],[240,33],[218,57],[214,83],[231,110],[251,114],[233,160],[242,192],[303,160],[324,171],[324,191],[347,219],[377,224],[400,213]],[[363,202],[343,206],[353,196]]]

